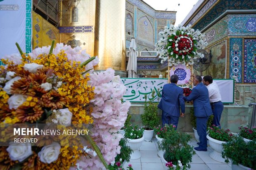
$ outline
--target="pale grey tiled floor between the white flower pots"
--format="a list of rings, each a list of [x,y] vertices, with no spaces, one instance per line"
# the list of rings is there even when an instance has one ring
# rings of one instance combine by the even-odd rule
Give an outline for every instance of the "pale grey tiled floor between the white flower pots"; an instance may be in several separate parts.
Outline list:
[[[190,145],[197,147],[196,140],[193,140]],[[130,160],[129,163],[125,163],[126,168],[128,164],[132,164],[134,170],[165,170],[165,163],[157,155],[157,140],[152,139],[152,142],[142,142],[140,147],[141,158],[137,160]],[[208,151],[196,151],[196,154],[192,157],[192,163],[190,170],[231,170],[231,164],[220,163],[214,161],[209,153],[212,148],[208,145]]]

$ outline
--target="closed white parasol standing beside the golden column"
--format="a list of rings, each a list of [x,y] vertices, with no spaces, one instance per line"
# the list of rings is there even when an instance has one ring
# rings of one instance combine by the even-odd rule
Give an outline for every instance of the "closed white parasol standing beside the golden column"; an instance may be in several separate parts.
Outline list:
[[[128,77],[137,77],[137,54],[136,54],[135,39],[132,38],[129,47],[129,60],[126,71],[128,71]]]

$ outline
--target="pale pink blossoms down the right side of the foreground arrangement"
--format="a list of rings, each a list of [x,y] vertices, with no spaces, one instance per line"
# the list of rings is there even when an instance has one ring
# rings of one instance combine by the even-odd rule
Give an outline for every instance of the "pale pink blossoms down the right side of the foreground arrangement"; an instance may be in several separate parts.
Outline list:
[[[114,76],[114,70],[107,69],[104,72],[90,75],[90,85],[95,86],[95,98],[91,102],[94,118],[91,129],[92,137],[107,161],[114,161],[117,154],[120,154],[119,141],[122,135],[117,133],[126,121],[130,102],[121,102],[126,92],[126,87],[121,83],[119,76]],[[83,158],[79,162],[79,168],[83,170],[95,170],[103,168],[103,164],[97,156]]]

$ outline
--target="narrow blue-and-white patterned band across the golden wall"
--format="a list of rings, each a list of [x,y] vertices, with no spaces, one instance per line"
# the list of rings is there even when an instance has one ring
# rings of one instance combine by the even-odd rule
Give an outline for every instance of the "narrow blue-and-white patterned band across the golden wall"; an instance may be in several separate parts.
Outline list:
[[[92,33],[92,26],[68,26],[58,27],[59,33]]]

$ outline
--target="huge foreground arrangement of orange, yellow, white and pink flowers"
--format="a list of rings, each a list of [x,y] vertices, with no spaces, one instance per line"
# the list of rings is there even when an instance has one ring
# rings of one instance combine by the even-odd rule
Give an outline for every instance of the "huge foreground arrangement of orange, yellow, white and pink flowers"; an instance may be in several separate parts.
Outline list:
[[[43,121],[68,128],[72,124],[91,124],[93,134],[87,138],[88,147],[98,156],[85,152],[76,140],[72,141],[74,147],[52,139],[44,147],[19,145],[19,156],[13,154],[17,145],[9,144],[0,147],[0,169],[18,165],[26,170],[68,170],[76,169],[78,162],[81,167],[98,169],[107,165],[102,160],[114,161],[120,152],[121,135],[117,130],[126,120],[130,102],[121,102],[126,89],[114,70],[92,74],[98,58],[80,50],[61,43],[55,49],[52,44],[28,55],[19,48],[20,54],[5,56],[2,61],[7,65],[1,66],[0,73],[0,125]],[[1,140],[6,140],[9,132],[3,133]],[[68,144],[69,139],[65,142]]]

